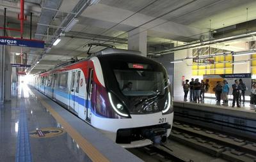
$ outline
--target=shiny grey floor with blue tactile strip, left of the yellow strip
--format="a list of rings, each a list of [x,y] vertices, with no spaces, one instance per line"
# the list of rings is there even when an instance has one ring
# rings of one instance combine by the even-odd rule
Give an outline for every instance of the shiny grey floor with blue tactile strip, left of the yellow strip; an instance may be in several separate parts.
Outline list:
[[[27,85],[12,95],[0,105],[0,161],[91,161]]]

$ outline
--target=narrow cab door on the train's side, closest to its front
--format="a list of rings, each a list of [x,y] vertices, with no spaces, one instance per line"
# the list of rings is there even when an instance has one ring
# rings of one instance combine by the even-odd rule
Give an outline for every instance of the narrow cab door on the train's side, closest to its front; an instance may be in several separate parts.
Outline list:
[[[89,68],[89,78],[87,83],[87,99],[86,99],[86,121],[91,121],[92,117],[92,90],[93,90],[93,69]]]

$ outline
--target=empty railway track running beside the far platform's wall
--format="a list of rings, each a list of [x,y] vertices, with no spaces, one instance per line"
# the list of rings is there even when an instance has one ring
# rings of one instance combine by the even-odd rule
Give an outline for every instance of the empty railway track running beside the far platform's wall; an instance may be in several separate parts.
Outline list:
[[[170,139],[227,161],[256,161],[256,143],[182,122],[173,122]]]

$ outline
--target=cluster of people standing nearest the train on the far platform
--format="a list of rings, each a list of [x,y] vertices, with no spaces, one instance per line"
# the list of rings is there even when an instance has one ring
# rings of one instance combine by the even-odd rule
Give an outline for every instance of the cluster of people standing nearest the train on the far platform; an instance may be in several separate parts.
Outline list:
[[[204,101],[204,93],[208,91],[210,85],[209,85],[209,80],[201,80],[199,82],[199,79],[196,78],[194,81],[194,78],[191,79],[191,82],[189,80],[186,80],[185,83],[183,84],[183,90],[184,90],[184,101],[188,101],[188,92],[189,92],[189,97],[190,101],[194,102],[200,102]]]

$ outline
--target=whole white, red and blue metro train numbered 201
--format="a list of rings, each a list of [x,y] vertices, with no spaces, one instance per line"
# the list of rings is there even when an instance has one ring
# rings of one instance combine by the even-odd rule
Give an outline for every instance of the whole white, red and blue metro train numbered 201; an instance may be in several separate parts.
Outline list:
[[[107,48],[34,75],[33,86],[122,147],[161,144],[173,122],[168,75],[134,53]]]

